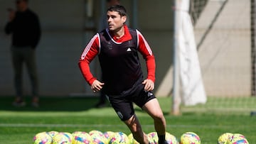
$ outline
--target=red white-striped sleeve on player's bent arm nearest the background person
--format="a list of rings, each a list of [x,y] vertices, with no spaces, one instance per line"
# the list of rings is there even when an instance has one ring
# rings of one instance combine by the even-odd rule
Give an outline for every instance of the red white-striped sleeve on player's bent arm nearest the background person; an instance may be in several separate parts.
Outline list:
[[[96,57],[99,53],[100,42],[99,35],[95,35],[90,42],[86,45],[85,50],[82,52],[80,60],[78,62],[79,68],[82,72],[82,76],[85,77],[85,80],[88,84],[92,85],[92,82],[97,79],[93,77],[92,72],[90,72],[90,62]]]

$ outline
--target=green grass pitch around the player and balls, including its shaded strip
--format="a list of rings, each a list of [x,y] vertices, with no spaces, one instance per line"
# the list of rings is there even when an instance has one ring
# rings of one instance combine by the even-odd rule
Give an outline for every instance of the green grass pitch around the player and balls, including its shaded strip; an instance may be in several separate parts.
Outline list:
[[[33,108],[11,106],[10,96],[0,97],[0,143],[29,144],[36,133],[43,131],[122,131],[130,133],[110,106],[95,109],[95,97],[42,97],[41,106]],[[193,131],[201,138],[202,144],[217,143],[218,136],[225,132],[241,133],[249,143],[256,143],[256,97],[208,98],[207,104],[181,106],[181,116],[171,116],[171,97],[159,97],[164,111],[167,131],[180,138]],[[27,104],[29,104],[27,98]],[[154,131],[152,119],[135,107],[145,133]]]

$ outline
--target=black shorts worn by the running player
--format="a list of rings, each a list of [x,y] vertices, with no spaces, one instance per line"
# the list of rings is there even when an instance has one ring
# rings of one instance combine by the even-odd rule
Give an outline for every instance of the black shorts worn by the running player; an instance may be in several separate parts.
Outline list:
[[[107,95],[107,97],[114,111],[116,111],[117,115],[122,121],[127,121],[134,115],[133,102],[142,108],[146,102],[156,98],[152,92],[144,91],[144,84],[140,84],[129,94],[120,94],[114,96]]]

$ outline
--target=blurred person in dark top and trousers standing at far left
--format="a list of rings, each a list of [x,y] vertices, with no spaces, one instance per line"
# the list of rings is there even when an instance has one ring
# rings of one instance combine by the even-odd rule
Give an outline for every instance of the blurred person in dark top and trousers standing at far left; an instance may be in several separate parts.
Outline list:
[[[36,70],[36,46],[41,38],[41,27],[36,13],[28,9],[28,0],[16,0],[16,11],[8,9],[9,22],[5,33],[12,34],[11,60],[14,67],[14,106],[25,106],[23,99],[22,72],[26,64],[32,87],[32,106],[38,107],[38,74]]]

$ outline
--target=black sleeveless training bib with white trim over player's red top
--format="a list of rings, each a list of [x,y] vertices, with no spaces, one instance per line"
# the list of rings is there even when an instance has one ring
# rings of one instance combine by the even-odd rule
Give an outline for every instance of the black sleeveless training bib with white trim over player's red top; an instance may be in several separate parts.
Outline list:
[[[107,31],[100,34],[100,65],[103,91],[106,94],[120,94],[132,88],[139,81],[142,83],[143,73],[139,62],[137,33],[129,29],[132,39],[124,43],[115,43]],[[128,88],[128,89],[127,89]]]

